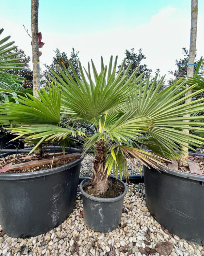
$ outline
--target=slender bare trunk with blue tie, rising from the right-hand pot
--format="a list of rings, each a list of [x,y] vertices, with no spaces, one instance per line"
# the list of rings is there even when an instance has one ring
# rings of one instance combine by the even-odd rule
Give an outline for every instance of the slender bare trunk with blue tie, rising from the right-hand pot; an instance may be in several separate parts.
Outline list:
[[[188,57],[188,67],[187,67],[187,76],[193,77],[194,71],[194,61],[195,61],[195,50],[196,50],[196,37],[197,37],[197,22],[198,22],[198,0],[191,0],[191,28],[190,28],[190,49]],[[186,85],[188,88],[189,85]],[[191,94],[192,91],[189,90],[186,93],[186,96]],[[191,102],[191,98],[187,99],[185,103]],[[184,115],[184,117],[188,117]],[[187,120],[186,120],[187,121]],[[188,120],[189,122],[189,120]],[[189,130],[183,129],[183,132],[189,133]],[[185,145],[188,145],[185,143]],[[180,165],[188,166],[188,147],[182,146],[182,155],[180,159]]]

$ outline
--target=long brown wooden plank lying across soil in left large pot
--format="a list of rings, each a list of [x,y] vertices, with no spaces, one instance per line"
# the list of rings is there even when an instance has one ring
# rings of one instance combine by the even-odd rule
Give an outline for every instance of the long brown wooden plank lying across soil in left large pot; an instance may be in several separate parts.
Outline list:
[[[47,163],[51,163],[52,160],[53,162],[56,162],[58,160],[74,158],[80,155],[81,155],[80,153],[73,153],[68,155],[56,156],[54,157],[54,160],[53,160],[53,157],[51,157],[51,158],[45,158],[41,160],[29,161],[25,163],[18,163],[17,165],[12,165],[9,170],[21,170],[21,169],[34,167],[34,166],[46,165]]]

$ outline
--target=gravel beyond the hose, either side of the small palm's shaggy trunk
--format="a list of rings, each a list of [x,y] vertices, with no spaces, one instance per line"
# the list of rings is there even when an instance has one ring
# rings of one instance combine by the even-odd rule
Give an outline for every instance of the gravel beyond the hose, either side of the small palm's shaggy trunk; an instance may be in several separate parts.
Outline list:
[[[93,166],[93,164],[91,163],[91,161],[93,159],[94,157],[85,155],[84,160],[81,163],[80,177],[88,177],[92,175],[91,165]],[[127,160],[129,175],[137,175],[137,174],[140,175],[138,160],[132,159],[135,165],[137,166],[137,168],[135,168],[135,166],[133,165],[130,159],[126,158],[126,160]],[[142,165],[141,165],[141,173],[143,174]]]

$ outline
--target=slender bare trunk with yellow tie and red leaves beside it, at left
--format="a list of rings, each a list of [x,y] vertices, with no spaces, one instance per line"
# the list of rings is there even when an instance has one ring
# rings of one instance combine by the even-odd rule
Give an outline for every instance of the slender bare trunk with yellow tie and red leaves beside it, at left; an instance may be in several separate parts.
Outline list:
[[[31,30],[32,30],[32,61],[33,61],[33,96],[39,99],[37,90],[40,91],[40,62],[38,44],[38,0],[31,3]],[[35,150],[35,155],[42,154],[42,145]]]

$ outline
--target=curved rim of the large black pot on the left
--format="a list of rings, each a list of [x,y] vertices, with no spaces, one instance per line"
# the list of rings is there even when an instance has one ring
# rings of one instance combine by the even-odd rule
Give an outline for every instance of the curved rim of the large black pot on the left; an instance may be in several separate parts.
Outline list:
[[[7,154],[7,153],[5,153],[5,154]],[[0,180],[32,179],[32,178],[36,178],[36,177],[47,176],[47,175],[54,174],[57,172],[62,172],[65,170],[68,171],[72,167],[81,163],[81,161],[83,161],[83,159],[84,159],[84,155],[73,162],[67,163],[66,165],[62,165],[62,166],[55,167],[52,169],[47,169],[47,170],[26,172],[26,173],[0,173]]]

